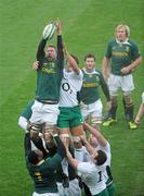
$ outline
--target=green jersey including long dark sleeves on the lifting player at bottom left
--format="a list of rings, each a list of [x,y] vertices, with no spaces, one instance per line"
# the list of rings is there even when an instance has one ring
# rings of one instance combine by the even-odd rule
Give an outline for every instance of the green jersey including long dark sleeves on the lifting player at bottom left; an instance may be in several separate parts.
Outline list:
[[[64,159],[66,151],[64,150],[64,145],[58,136],[55,137],[55,142],[57,145],[57,152],[55,152],[54,149],[51,154],[52,157],[41,160],[39,164],[32,164],[28,160],[28,155],[31,151],[30,134],[25,134],[24,148],[26,167],[34,181],[35,192],[39,194],[58,192],[56,185],[56,170],[61,167],[61,162]]]

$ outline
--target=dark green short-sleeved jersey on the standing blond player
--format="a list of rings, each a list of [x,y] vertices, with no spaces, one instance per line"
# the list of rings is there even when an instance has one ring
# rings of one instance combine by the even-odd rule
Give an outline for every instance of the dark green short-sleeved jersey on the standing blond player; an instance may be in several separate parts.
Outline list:
[[[107,45],[105,57],[110,58],[112,73],[115,75],[123,75],[120,70],[139,58],[140,52],[138,46],[131,40],[120,44],[116,39],[113,39]]]

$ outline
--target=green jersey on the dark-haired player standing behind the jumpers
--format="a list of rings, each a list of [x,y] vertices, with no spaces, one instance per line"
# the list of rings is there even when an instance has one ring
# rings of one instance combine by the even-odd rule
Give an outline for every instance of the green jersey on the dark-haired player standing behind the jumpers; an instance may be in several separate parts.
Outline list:
[[[102,87],[107,100],[109,100],[108,87],[104,81],[102,73],[94,70],[92,73],[88,73],[84,69],[83,72],[83,83],[80,90],[80,100],[90,105],[100,99],[100,86]]]

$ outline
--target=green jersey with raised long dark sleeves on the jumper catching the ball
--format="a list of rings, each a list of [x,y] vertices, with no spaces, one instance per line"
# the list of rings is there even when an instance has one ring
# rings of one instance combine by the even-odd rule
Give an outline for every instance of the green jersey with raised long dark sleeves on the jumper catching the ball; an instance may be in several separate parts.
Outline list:
[[[45,44],[47,40],[42,39],[37,52],[37,60],[40,66],[37,71],[36,99],[58,101],[64,66],[62,36],[57,36],[57,57],[52,62],[45,58]]]

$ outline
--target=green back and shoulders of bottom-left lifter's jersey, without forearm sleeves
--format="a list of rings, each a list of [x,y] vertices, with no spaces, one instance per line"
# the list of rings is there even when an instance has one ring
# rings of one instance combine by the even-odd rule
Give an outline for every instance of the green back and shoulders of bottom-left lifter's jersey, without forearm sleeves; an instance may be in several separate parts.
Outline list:
[[[55,154],[53,157],[49,157],[45,161],[39,166],[35,166],[28,162],[26,157],[26,166],[28,172],[35,184],[35,192],[37,193],[57,193],[56,185],[56,169],[61,166],[63,158]]]

